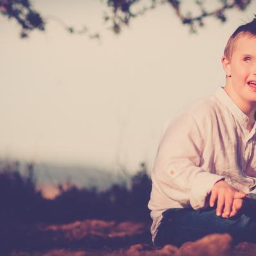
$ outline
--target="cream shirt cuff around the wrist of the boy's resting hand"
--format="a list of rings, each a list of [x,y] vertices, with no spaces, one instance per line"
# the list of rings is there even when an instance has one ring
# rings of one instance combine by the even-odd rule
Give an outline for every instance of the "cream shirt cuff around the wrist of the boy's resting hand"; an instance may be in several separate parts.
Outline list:
[[[205,206],[205,199],[212,191],[212,187],[217,181],[224,179],[224,176],[212,174],[210,172],[199,172],[194,179],[190,191],[190,205],[194,210]]]

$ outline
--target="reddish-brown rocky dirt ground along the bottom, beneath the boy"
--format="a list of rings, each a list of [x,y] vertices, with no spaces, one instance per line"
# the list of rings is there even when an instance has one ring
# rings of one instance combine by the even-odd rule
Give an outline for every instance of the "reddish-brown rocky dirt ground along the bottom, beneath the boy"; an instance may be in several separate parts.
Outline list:
[[[232,246],[228,234],[212,234],[180,248],[156,250],[150,224],[86,220],[70,224],[0,226],[0,255],[11,256],[255,256],[256,244]]]

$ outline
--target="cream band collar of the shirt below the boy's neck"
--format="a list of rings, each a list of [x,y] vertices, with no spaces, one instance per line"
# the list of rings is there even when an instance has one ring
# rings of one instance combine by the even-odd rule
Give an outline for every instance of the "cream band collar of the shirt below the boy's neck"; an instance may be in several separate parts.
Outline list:
[[[222,104],[226,105],[228,110],[233,114],[233,116],[241,123],[246,129],[248,126],[249,118],[246,114],[244,114],[241,109],[233,102],[232,98],[226,93],[224,90],[224,87],[219,86],[217,91],[215,92],[216,98],[221,102]],[[255,125],[254,125],[255,127]],[[253,127],[253,128],[254,128]]]

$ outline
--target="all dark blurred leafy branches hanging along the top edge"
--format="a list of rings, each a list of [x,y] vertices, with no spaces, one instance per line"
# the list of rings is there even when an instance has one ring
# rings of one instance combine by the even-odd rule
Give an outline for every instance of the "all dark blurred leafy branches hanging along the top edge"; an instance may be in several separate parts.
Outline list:
[[[224,23],[226,22],[226,10],[237,8],[243,11],[251,3],[251,0],[215,0],[214,3],[216,1],[219,3],[219,7],[214,10],[207,10],[205,1],[194,0],[194,5],[199,8],[199,14],[192,14],[192,12],[183,14],[181,7],[188,3],[185,0],[101,0],[107,7],[107,12],[104,14],[104,21],[107,24],[110,23],[113,32],[117,34],[122,31],[123,26],[128,26],[132,19],[145,14],[149,10],[154,10],[161,5],[170,6],[181,23],[188,25],[190,32],[196,32],[198,27],[204,26],[206,17],[216,17]],[[46,28],[46,18],[33,9],[30,0],[0,0],[0,14],[8,17],[8,19],[15,19],[17,21],[22,29],[22,38],[28,37],[28,33],[32,30],[43,31]],[[63,23],[61,24],[63,25]],[[64,28],[69,33],[87,32],[87,28],[78,31],[65,24]],[[100,35],[95,33],[89,35],[89,37],[98,39]]]

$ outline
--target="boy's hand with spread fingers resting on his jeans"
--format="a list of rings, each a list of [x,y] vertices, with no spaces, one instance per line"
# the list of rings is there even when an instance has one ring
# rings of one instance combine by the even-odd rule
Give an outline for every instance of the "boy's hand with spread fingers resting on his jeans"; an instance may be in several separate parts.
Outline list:
[[[235,215],[237,210],[242,207],[242,202],[234,202],[234,199],[242,199],[244,197],[246,197],[244,192],[236,190],[226,183],[226,181],[217,181],[212,188],[210,206],[213,207],[215,205],[215,201],[217,200],[217,216],[224,214],[224,216],[229,217],[231,214]]]

